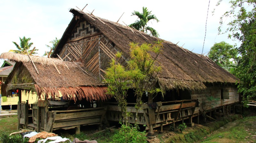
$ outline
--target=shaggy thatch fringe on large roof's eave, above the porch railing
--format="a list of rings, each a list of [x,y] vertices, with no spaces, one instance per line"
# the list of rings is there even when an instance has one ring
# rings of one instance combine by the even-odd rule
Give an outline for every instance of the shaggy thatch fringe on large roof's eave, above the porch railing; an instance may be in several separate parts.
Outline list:
[[[162,90],[172,89],[189,89],[189,90],[204,90],[206,86],[198,81],[185,81],[172,78],[159,78],[159,85]]]

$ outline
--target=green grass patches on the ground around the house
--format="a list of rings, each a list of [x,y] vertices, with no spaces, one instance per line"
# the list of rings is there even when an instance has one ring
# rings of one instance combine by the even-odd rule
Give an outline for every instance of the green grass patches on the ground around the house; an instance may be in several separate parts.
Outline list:
[[[246,117],[240,120],[236,119],[238,119],[238,116],[231,116],[229,118],[223,118],[217,122],[211,122],[208,127],[204,127],[207,130],[199,127],[196,127],[196,129],[190,128],[190,130],[186,128],[184,133],[177,133],[168,138],[168,142],[256,143],[256,116]],[[17,115],[0,118],[0,137],[9,138],[10,133],[17,131],[17,122]],[[3,134],[8,136],[2,136]],[[69,138],[71,141],[73,141],[73,138],[78,138],[80,141],[96,140],[99,143],[109,143],[113,141],[115,133],[107,130],[102,133],[92,134],[92,132],[81,130],[80,135],[74,135],[68,133],[66,130],[61,130],[58,134],[62,137]],[[166,142],[166,140],[161,138],[161,134],[159,137],[161,140],[160,142]],[[19,140],[20,136],[13,136],[12,138]],[[26,141],[23,142],[25,143]]]

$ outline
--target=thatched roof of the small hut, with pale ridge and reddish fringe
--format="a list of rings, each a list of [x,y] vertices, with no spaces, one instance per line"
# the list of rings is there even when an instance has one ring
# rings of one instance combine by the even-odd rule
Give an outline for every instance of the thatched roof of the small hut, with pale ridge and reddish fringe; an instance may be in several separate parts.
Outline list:
[[[90,73],[81,69],[81,62],[31,56],[38,74],[28,55],[2,53],[0,58],[16,62],[13,71],[6,79],[4,86],[6,91],[20,88],[36,91],[39,98],[41,95],[46,98],[62,96],[63,99],[75,101],[82,98],[87,100],[110,98],[105,94],[107,87]]]

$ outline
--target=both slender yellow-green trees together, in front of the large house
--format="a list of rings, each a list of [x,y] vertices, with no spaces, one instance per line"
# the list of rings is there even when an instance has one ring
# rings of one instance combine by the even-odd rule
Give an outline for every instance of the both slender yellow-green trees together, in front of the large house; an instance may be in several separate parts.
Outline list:
[[[136,115],[142,106],[142,96],[146,91],[148,94],[154,94],[161,90],[155,88],[155,77],[161,71],[160,66],[155,65],[155,60],[162,52],[162,41],[155,42],[154,45],[131,43],[130,44],[130,60],[126,66],[121,65],[117,61],[121,58],[121,53],[116,54],[116,59],[112,59],[106,70],[105,82],[108,84],[108,93],[112,95],[122,110],[123,120],[128,118],[127,113],[127,90],[134,89],[136,97]],[[151,57],[150,53],[154,53]],[[126,120],[127,121],[127,120]]]

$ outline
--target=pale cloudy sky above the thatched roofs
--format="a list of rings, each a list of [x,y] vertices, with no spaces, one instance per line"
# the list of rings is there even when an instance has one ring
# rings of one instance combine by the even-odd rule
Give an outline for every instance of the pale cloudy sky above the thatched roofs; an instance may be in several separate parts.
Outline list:
[[[0,53],[15,50],[12,42],[20,43],[19,37],[31,38],[32,47],[39,49],[42,56],[52,46],[49,42],[55,37],[60,39],[72,20],[70,8],[92,12],[95,16],[116,22],[120,16],[120,24],[131,24],[136,16],[131,16],[134,10],[142,12],[147,7],[160,22],[149,22],[149,26],[159,32],[160,38],[187,48],[195,53],[202,53],[204,35],[207,32],[203,53],[209,52],[214,43],[225,41],[234,45],[228,34],[218,35],[219,20],[230,5],[223,0],[216,7],[218,0],[211,0],[207,19],[208,0],[8,0],[0,1]],[[213,10],[215,13],[213,15]],[[224,19],[226,24],[230,18]],[[3,61],[0,61],[0,65]]]

